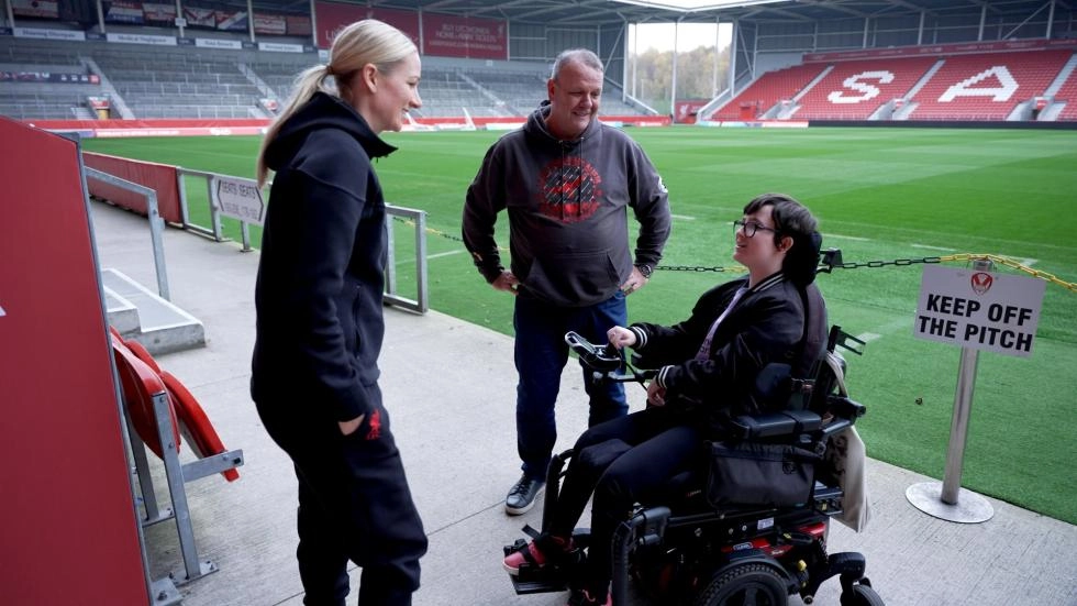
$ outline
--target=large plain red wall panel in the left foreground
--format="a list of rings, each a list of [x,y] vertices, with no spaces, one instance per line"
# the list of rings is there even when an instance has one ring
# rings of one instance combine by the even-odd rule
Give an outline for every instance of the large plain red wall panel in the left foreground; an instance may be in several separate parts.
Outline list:
[[[148,604],[78,147],[0,142],[0,601]]]

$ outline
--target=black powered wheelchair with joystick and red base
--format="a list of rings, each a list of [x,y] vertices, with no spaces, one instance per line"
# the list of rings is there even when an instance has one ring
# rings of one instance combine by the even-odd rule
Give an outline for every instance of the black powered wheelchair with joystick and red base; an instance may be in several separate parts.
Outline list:
[[[837,253],[840,254],[840,253]],[[809,313],[809,322],[825,327],[825,307],[812,288],[821,313]],[[644,383],[654,371],[641,371],[645,361],[635,354],[628,363],[613,348],[587,342],[576,333],[565,337],[581,363],[609,381]],[[670,478],[668,498],[637,504],[631,517],[614,532],[612,541],[612,603],[626,606],[629,579],[636,590],[656,604],[696,606],[778,606],[799,594],[804,604],[814,602],[820,585],[839,576],[842,606],[881,606],[882,599],[864,576],[866,560],[856,552],[826,552],[830,518],[843,513],[844,493],[826,464],[831,438],[855,423],[865,407],[845,395],[845,361],[837,348],[857,355],[862,341],[837,326],[828,333],[825,348],[808,377],[790,376],[785,364],[764,368],[756,390],[764,397],[788,400],[777,412],[729,419],[733,443],[789,445],[814,453],[803,465],[785,464],[806,475],[804,498],[796,504],[718,504],[707,498],[706,462],[700,469]],[[840,388],[839,388],[840,387]],[[774,400],[771,400],[774,401]],[[573,451],[556,454],[546,477],[543,530],[553,517],[559,481]],[[779,463],[781,465],[781,463]],[[524,527],[536,537],[537,532]],[[574,550],[565,559],[545,566],[524,564],[510,575],[518,594],[559,592],[578,587],[590,542],[589,530],[577,528]],[[504,554],[525,549],[518,539]]]

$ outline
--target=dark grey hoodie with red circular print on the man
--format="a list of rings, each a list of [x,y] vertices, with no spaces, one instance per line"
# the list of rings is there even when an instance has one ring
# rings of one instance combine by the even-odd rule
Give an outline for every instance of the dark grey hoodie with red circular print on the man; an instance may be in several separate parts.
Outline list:
[[[464,244],[492,283],[501,272],[493,239],[508,210],[512,273],[520,296],[586,307],[613,296],[632,265],[654,268],[669,238],[666,187],[651,159],[623,132],[592,119],[575,140],[545,124],[548,101],[482,158],[464,203]],[[629,250],[628,209],[640,222]]]

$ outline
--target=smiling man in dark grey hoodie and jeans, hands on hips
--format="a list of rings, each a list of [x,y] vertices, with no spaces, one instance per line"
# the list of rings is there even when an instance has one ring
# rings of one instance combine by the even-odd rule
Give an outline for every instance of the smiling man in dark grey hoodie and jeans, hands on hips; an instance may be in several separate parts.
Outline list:
[[[487,152],[464,205],[464,243],[490,285],[515,296],[517,450],[523,475],[509,492],[510,515],[542,492],[557,438],[554,404],[568,362],[569,330],[602,342],[626,326],[625,297],[643,287],[669,236],[666,188],[639,144],[596,120],[602,63],[587,49],[554,62],[544,101],[523,129]],[[629,250],[628,209],[640,222]],[[511,265],[493,238],[509,217]],[[588,425],[628,412],[620,384],[595,382]]]

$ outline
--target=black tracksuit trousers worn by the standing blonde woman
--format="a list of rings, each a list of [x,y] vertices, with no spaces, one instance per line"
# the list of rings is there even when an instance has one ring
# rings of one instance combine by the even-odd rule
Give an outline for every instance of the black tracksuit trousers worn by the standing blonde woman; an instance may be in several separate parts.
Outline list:
[[[296,403],[258,404],[269,436],[299,478],[299,574],[308,606],[343,606],[347,562],[363,569],[360,606],[408,606],[419,588],[426,536],[378,407],[342,436],[336,422],[311,419]]]

